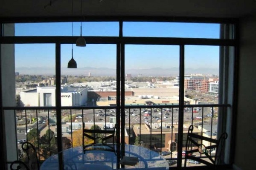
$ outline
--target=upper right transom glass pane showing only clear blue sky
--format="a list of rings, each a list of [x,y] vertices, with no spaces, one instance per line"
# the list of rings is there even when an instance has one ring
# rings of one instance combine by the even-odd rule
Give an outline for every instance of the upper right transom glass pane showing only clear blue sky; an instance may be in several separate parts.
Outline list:
[[[125,37],[220,38],[220,24],[124,22]]]

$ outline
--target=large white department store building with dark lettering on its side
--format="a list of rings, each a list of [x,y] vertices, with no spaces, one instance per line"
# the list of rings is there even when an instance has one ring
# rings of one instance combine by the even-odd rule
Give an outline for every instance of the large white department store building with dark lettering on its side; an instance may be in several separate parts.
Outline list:
[[[61,87],[61,106],[81,106],[87,104],[88,88]],[[20,92],[20,100],[25,106],[55,106],[55,86],[37,87]]]

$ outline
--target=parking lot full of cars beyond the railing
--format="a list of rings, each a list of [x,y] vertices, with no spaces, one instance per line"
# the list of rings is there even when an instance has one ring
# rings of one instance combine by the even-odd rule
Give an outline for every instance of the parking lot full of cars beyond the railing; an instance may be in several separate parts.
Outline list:
[[[184,110],[184,123],[191,123],[192,116],[194,124],[209,124],[211,111],[210,108],[204,108],[204,114],[202,114],[202,109],[198,109],[198,111]],[[178,109],[125,109],[125,123],[154,123],[154,122],[173,122],[174,124],[178,122]],[[81,111],[76,111],[76,121],[82,121],[82,113]],[[115,110],[95,110],[93,116],[93,110],[84,110],[84,122],[109,122],[110,117],[116,117]],[[203,120],[202,120],[203,119]]]

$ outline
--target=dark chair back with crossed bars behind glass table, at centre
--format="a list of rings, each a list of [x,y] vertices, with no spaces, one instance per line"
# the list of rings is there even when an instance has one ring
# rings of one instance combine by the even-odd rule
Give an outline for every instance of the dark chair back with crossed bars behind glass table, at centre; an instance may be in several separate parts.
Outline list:
[[[96,127],[96,126],[94,126]],[[92,139],[93,142],[90,144],[84,144],[85,138]],[[107,140],[111,139],[112,144],[107,143]],[[101,130],[101,129],[85,129],[85,125],[83,122],[83,148],[84,151],[87,150],[87,148],[91,148],[94,145],[102,144],[104,145],[105,150],[115,151],[114,150],[114,144],[116,140],[116,125],[114,126],[113,130]]]

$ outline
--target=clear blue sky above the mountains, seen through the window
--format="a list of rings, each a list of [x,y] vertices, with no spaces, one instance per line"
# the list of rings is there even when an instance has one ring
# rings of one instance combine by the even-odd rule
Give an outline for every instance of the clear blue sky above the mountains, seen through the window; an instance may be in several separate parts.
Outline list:
[[[118,36],[118,22],[82,23],[83,36]],[[219,38],[219,24],[125,22],[123,35],[131,37]],[[73,35],[79,36],[80,23],[73,23]],[[15,24],[16,36],[71,36],[71,23]],[[71,58],[71,44],[61,45],[61,67]],[[78,67],[116,68],[116,45],[76,47],[73,56]],[[125,45],[125,67],[179,67],[177,45]],[[218,68],[218,46],[185,46],[186,68]],[[16,67],[55,67],[54,44],[16,44]]]

